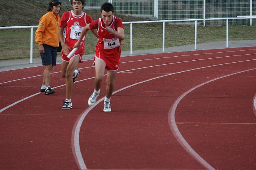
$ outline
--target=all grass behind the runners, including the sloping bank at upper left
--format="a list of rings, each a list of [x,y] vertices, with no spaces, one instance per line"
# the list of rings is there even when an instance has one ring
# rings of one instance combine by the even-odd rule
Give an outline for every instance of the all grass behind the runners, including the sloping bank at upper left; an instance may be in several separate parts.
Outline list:
[[[36,0],[0,1],[0,26],[36,26],[48,8],[48,2]],[[10,15],[10,11],[15,12]],[[69,3],[63,3],[60,15],[71,10]],[[100,17],[99,10],[84,10],[93,19]],[[116,16],[120,16],[115,13]],[[120,16],[123,22],[146,21],[148,18]],[[33,57],[40,57],[33,28]],[[130,24],[124,24],[125,40],[122,51],[130,51]],[[226,40],[226,26],[197,28],[197,42],[219,42]],[[133,50],[162,48],[162,23],[133,24]],[[0,60],[30,57],[30,29],[0,30]],[[229,40],[256,40],[256,26],[230,26]],[[85,54],[93,54],[97,38],[88,32]],[[194,26],[165,24],[165,47],[194,44]],[[58,53],[60,55],[60,53]]]

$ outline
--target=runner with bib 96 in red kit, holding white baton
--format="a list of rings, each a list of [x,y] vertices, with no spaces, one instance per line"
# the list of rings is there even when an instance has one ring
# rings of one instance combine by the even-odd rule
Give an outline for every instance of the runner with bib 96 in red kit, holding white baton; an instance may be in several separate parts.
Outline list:
[[[83,28],[93,22],[92,17],[82,11],[84,8],[84,0],[71,0],[73,7],[72,11],[64,12],[60,19],[59,37],[62,45],[62,62],[61,62],[61,75],[66,78],[66,99],[64,100],[62,109],[71,109],[71,94],[73,89],[73,83],[76,81],[80,69],[76,69],[78,63],[82,63],[82,56],[84,54],[84,40],[85,36],[81,36],[81,46],[76,52],[68,58],[72,47],[80,38],[80,34]],[[63,38],[63,31],[65,29],[65,41]],[[92,30],[92,33],[97,36],[96,30]]]

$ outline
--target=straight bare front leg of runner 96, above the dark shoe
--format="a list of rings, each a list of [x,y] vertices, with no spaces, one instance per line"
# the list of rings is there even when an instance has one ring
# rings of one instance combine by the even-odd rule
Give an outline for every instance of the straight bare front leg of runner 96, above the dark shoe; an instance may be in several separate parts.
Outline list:
[[[73,89],[73,79],[72,76],[74,74],[74,70],[78,65],[80,58],[79,55],[72,57],[66,68],[66,99],[71,99],[72,89]]]

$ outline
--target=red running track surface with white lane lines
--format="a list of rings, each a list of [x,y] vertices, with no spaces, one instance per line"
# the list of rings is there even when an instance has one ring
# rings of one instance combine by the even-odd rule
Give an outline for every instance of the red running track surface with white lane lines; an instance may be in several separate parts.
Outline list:
[[[70,110],[60,65],[0,72],[0,169],[256,169],[256,47],[122,57],[111,113],[91,64]]]

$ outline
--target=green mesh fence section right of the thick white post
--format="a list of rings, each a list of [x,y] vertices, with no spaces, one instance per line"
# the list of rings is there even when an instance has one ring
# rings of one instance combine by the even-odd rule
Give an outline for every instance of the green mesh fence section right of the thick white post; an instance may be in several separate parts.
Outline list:
[[[252,1],[252,15],[256,0]],[[158,20],[226,18],[250,15],[250,0],[158,0]],[[203,24],[203,22],[200,22]],[[232,20],[231,25],[249,25],[250,20]],[[253,23],[255,25],[255,20]],[[206,26],[226,25],[226,21],[207,21]]]

